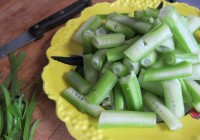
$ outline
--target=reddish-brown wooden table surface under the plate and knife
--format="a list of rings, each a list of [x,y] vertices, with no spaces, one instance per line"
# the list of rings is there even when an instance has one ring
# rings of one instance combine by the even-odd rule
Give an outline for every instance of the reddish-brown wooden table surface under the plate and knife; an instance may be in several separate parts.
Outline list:
[[[66,7],[76,0],[0,0],[0,46],[27,31],[28,27]],[[114,0],[93,0],[97,2]],[[61,25],[63,26],[63,25]],[[61,27],[60,26],[60,27]],[[41,78],[43,67],[47,65],[46,50],[55,32],[60,28],[45,33],[40,40],[30,43],[18,51],[27,54],[19,72],[19,79],[30,83]],[[8,57],[0,59],[0,82],[10,70]],[[35,140],[73,140],[65,124],[55,115],[55,104],[44,94],[40,94],[33,120],[40,119]]]

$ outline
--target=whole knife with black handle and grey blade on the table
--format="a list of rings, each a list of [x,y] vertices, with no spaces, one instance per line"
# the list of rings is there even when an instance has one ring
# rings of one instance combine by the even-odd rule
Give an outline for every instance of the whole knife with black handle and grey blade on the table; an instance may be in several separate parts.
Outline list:
[[[1,46],[0,58],[8,55],[20,47],[25,46],[32,41],[42,38],[45,32],[73,18],[84,8],[90,6],[91,4],[91,0],[78,0],[68,7],[36,23],[35,25],[31,26],[27,32],[21,34],[19,37],[15,38],[9,43]]]

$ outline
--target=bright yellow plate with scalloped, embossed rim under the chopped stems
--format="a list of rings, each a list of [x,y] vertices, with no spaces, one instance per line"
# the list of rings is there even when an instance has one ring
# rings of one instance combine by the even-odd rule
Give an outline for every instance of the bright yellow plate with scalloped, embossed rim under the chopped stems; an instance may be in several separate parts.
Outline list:
[[[155,8],[161,1],[117,0],[114,3],[99,3],[85,9],[80,17],[68,21],[66,26],[54,35],[51,47],[47,51],[49,64],[42,73],[44,91],[50,99],[56,102],[56,114],[60,120],[65,122],[74,138],[78,140],[200,140],[200,120],[195,120],[190,115],[181,119],[184,126],[177,131],[169,131],[163,123],[154,128],[97,129],[98,119],[79,112],[60,96],[60,93],[68,86],[62,78],[63,73],[73,67],[53,61],[50,57],[82,53],[82,47],[72,40],[72,35],[85,20],[95,14],[107,14],[113,11],[133,13],[134,10],[142,10],[147,6]],[[194,7],[180,3],[172,5],[183,15],[200,16],[200,11]]]

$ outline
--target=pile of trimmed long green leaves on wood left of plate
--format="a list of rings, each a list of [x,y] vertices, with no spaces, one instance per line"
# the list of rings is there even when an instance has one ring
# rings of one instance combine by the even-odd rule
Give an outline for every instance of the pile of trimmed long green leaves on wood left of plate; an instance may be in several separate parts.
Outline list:
[[[30,103],[28,99],[25,99],[25,103],[23,102],[24,94],[20,92],[23,81],[18,80],[17,73],[20,70],[24,58],[24,52],[20,52],[16,56],[14,54],[9,55],[11,71],[0,85],[0,92],[3,93],[2,96],[0,96],[0,102],[3,102],[3,105],[5,104],[5,107],[0,105],[0,140],[32,140],[35,129],[39,124],[39,121],[37,120],[30,131],[32,114],[36,107],[37,97],[42,86],[37,85]],[[35,85],[35,83],[36,82],[34,81],[28,85],[26,88],[27,94],[30,94],[30,87]],[[6,126],[4,126],[4,120],[6,120]]]

